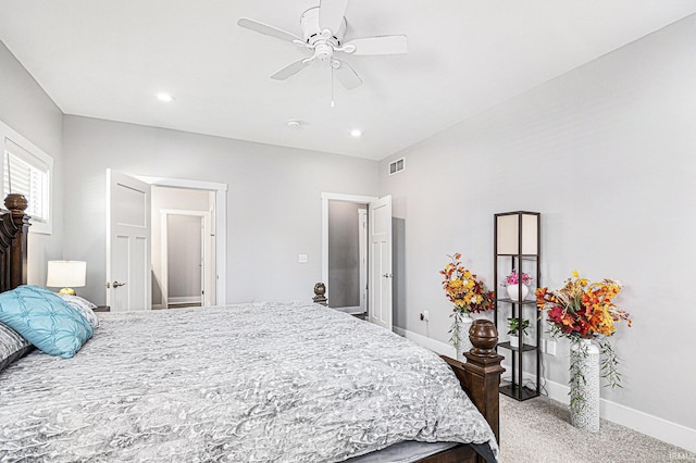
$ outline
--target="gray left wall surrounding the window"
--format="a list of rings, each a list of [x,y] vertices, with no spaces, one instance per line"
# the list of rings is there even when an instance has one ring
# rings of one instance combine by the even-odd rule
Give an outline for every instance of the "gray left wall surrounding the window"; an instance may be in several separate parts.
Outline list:
[[[62,249],[63,113],[1,41],[0,83],[0,121],[44,150],[54,162],[53,233],[32,233],[28,242],[28,283],[45,285],[47,261],[76,259],[69,254],[63,255]]]

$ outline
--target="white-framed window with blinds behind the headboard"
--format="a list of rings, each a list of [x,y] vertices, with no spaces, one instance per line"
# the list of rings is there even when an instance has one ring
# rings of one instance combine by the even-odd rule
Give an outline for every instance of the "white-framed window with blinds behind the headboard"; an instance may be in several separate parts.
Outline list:
[[[0,203],[11,192],[24,195],[28,202],[26,213],[32,217],[29,230],[50,234],[53,159],[2,123],[0,135],[3,135]]]

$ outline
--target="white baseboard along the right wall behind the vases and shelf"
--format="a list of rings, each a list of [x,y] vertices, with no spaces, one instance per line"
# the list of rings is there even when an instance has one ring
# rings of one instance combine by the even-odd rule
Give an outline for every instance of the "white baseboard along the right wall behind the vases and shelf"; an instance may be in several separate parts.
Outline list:
[[[403,336],[407,339],[412,340],[417,345],[420,345],[426,349],[433,350],[437,353],[455,356],[455,348],[451,346],[431,339],[426,336],[419,335],[417,333],[409,331],[403,328],[394,327],[394,331],[397,335]],[[506,368],[506,373],[510,372],[510,365],[502,364]],[[505,376],[506,373],[502,375]],[[536,380],[536,377],[530,373],[524,373],[524,380]],[[570,388],[560,383],[555,383],[546,379],[543,384],[548,397],[558,402],[568,404],[568,392]],[[667,443],[671,443],[689,452],[696,452],[696,429],[682,426],[676,423],[669,422],[658,416],[649,415],[639,410],[631,409],[629,406],[616,403],[606,399],[600,399],[599,414],[602,418],[612,423],[617,423],[621,426],[634,429],[638,433],[643,433],[647,436],[662,440]]]

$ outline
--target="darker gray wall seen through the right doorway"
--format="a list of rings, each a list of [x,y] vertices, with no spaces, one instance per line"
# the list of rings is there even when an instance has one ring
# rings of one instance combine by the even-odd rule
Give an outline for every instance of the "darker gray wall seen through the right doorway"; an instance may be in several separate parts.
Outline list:
[[[328,201],[328,306],[360,305],[358,210],[366,204]]]

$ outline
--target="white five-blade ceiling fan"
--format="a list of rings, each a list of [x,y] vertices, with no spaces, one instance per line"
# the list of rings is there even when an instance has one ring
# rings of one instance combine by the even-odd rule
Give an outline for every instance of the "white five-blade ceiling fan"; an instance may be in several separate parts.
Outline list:
[[[258,21],[243,17],[237,21],[240,27],[254,30],[281,40],[290,41],[309,50],[312,55],[299,59],[283,67],[271,76],[276,80],[285,80],[319,61],[328,63],[338,82],[351,90],[362,84],[362,79],[345,61],[337,58],[347,54],[398,54],[406,53],[407,38],[398,36],[378,36],[356,38],[344,42],[346,34],[346,7],[348,0],[321,0],[319,7],[310,8],[300,17],[302,38],[295,34],[278,29]]]

